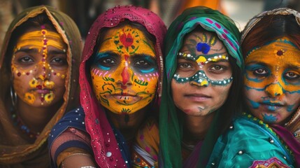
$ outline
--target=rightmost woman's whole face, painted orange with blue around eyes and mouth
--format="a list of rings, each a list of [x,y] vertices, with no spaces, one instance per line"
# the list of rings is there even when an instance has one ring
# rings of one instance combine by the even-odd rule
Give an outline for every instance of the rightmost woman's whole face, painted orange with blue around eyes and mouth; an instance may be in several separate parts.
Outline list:
[[[280,38],[245,59],[245,95],[250,111],[266,123],[283,124],[300,105],[300,50]]]

